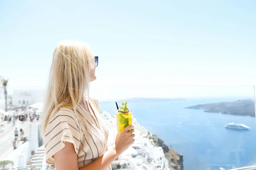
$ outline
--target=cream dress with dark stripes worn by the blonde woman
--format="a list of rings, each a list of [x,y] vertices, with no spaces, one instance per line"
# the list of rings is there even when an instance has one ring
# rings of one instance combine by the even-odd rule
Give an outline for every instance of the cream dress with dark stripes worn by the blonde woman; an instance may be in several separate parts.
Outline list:
[[[79,168],[107,151],[108,130],[102,121],[99,103],[92,98],[89,103],[90,112],[79,104],[76,113],[72,109],[61,108],[52,117],[44,140],[48,164],[55,164],[53,155],[65,146],[65,142],[74,144]],[[106,170],[111,170],[111,166]]]

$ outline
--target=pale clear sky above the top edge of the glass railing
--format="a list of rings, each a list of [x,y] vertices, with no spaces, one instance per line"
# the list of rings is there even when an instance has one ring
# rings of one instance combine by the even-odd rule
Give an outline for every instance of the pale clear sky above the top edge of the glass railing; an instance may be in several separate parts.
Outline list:
[[[255,20],[255,0],[1,0],[0,75],[45,86],[72,39],[99,56],[94,86],[254,85]]]

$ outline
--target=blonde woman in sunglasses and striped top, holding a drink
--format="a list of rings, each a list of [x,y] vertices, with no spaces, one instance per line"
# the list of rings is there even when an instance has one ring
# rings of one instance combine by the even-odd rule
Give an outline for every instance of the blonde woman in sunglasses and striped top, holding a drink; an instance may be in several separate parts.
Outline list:
[[[107,149],[99,103],[89,97],[97,65],[98,57],[83,42],[63,41],[53,53],[41,135],[47,163],[57,170],[111,170],[111,163],[134,142],[129,125]]]

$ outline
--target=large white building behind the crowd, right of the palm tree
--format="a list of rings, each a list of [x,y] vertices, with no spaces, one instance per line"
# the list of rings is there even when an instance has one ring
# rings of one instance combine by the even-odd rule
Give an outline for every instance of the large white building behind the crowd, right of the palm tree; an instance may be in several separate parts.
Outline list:
[[[22,89],[14,90],[12,95],[13,106],[27,106],[37,102],[43,102],[44,93],[43,89]]]

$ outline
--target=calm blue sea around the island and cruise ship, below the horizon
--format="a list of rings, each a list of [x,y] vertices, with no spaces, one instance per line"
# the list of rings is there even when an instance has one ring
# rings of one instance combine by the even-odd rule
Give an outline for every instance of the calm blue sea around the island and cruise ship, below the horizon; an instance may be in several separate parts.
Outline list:
[[[184,170],[226,170],[256,164],[256,119],[185,109],[192,105],[230,102],[239,98],[185,99],[166,102],[129,102],[134,117],[145,128],[183,154]],[[114,113],[113,102],[100,107]],[[250,130],[224,128],[243,123]]]

